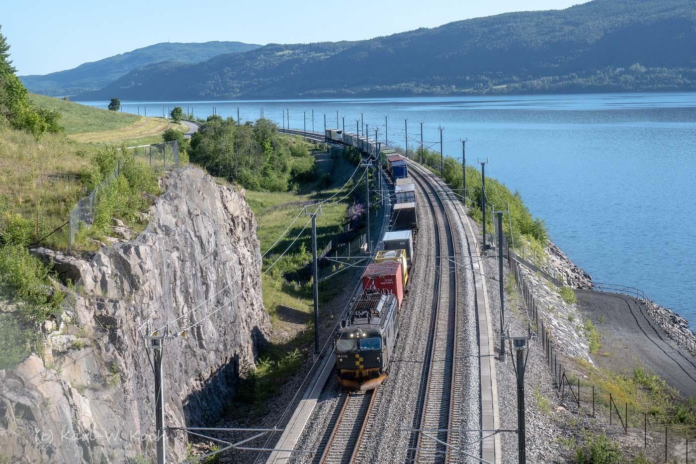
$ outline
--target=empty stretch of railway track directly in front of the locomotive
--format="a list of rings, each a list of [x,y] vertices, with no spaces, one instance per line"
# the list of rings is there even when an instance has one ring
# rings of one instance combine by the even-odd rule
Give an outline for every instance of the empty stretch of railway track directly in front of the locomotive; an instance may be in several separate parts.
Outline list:
[[[355,461],[357,445],[365,432],[367,417],[370,416],[378,390],[342,393],[345,398],[341,410],[317,463],[349,464]]]

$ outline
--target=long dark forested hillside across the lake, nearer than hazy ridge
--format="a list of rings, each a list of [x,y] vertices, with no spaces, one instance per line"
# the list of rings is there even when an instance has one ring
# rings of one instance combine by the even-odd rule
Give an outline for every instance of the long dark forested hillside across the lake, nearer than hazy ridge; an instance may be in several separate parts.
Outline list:
[[[363,40],[161,63],[78,98],[696,90],[696,0],[595,0]]]

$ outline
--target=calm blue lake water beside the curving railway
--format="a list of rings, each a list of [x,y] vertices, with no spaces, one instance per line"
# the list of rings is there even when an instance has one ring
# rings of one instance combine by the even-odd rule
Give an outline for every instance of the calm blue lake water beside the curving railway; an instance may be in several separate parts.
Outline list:
[[[106,107],[108,102],[85,102]],[[546,221],[551,238],[595,281],[641,288],[696,325],[696,93],[374,98],[233,102],[124,102],[123,111],[161,116],[181,106],[196,116],[264,116],[307,130],[356,121],[390,144],[488,158],[488,176]],[[287,125],[287,118],[285,120]],[[493,201],[495,200],[494,194]]]

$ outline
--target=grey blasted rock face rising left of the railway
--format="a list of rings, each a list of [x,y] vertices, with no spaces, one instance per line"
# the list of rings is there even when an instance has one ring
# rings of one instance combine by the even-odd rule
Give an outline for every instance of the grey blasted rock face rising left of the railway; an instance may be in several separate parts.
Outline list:
[[[124,462],[152,455],[152,353],[144,328],[185,331],[164,349],[167,426],[213,424],[269,334],[261,295],[256,221],[244,192],[184,167],[137,238],[96,252],[89,263],[35,250],[65,279],[68,334],[43,359],[0,371],[0,449],[17,462]],[[118,226],[118,225],[117,225]],[[167,322],[169,323],[167,324]],[[187,436],[170,431],[180,461]],[[15,462],[13,461],[13,462]]]

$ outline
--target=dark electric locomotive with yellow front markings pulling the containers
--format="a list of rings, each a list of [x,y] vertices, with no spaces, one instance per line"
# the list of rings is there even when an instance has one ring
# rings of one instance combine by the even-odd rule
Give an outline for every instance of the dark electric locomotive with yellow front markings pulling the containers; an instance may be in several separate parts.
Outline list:
[[[351,304],[334,339],[338,382],[371,390],[386,379],[399,331],[399,303],[393,293],[367,289]]]

